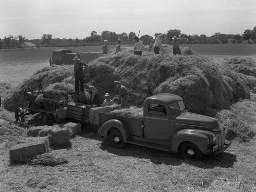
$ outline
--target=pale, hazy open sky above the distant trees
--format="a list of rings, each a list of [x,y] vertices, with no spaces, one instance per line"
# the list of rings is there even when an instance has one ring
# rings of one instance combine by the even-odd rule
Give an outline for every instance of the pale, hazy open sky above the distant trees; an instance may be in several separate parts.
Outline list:
[[[256,26],[256,0],[0,0],[0,38],[83,39],[92,31],[140,36],[240,34]]]

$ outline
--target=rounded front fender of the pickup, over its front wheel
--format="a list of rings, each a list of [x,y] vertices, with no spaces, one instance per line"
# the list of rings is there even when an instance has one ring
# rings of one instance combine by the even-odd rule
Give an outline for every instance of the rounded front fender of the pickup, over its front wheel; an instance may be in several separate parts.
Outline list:
[[[210,152],[209,149],[209,140],[207,135],[209,131],[205,130],[192,130],[185,129],[178,131],[172,139],[171,146],[172,151],[175,153],[179,152],[179,147],[184,142],[191,142],[195,144],[198,149],[205,155],[208,155]]]

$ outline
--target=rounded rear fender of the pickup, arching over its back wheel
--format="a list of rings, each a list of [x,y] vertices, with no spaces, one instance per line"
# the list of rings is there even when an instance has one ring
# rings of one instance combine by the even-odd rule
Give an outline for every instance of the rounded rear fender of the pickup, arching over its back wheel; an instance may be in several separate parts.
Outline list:
[[[123,141],[130,140],[130,132],[127,126],[121,120],[108,120],[99,129],[98,134],[103,137],[108,136],[108,132],[111,128],[116,128],[122,133]]]

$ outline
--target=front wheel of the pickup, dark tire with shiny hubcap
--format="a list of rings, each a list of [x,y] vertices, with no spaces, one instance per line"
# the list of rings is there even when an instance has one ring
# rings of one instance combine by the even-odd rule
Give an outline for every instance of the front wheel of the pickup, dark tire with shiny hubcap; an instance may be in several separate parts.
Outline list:
[[[202,152],[198,147],[191,143],[186,142],[181,146],[181,156],[186,159],[201,160],[203,157]]]

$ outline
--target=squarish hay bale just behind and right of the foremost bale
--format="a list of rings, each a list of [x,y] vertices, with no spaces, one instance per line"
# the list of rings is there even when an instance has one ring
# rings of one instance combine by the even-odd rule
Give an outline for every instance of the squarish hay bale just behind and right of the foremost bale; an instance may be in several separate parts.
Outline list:
[[[70,147],[71,132],[68,129],[53,128],[49,133],[49,144],[53,148]]]

